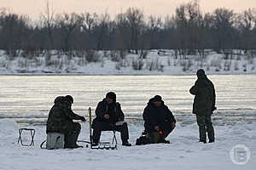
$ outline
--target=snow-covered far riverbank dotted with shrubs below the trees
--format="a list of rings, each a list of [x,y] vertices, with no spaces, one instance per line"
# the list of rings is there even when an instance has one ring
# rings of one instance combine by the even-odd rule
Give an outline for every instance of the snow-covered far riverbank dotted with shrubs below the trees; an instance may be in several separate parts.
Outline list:
[[[0,75],[191,75],[199,68],[207,74],[255,74],[255,54],[231,51],[202,56],[177,54],[173,50],[151,50],[144,55],[119,51],[24,54],[10,57],[0,51]]]

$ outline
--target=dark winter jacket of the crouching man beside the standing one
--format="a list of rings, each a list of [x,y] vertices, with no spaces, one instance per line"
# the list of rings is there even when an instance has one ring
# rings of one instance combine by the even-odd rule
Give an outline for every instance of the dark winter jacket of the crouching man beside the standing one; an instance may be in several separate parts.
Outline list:
[[[160,107],[156,107],[154,106],[153,99],[149,99],[148,105],[144,109],[143,120],[147,133],[154,132],[155,126],[159,126],[160,130],[164,130],[164,128],[166,128],[166,122],[176,122],[172,111],[169,110],[164,101],[162,101]]]

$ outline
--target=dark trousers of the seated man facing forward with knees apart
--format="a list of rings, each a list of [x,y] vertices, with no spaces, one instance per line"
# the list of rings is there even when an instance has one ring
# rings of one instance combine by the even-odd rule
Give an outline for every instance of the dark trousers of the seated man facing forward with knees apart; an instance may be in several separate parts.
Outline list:
[[[93,128],[92,139],[94,143],[99,143],[102,131],[120,132],[123,143],[127,142],[129,139],[128,126],[126,122],[121,126],[115,126],[109,122],[94,122],[92,128]]]

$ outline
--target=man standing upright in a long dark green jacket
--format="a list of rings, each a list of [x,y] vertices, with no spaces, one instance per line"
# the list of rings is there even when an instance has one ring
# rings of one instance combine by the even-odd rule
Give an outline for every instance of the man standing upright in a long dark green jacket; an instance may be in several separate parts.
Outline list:
[[[211,116],[212,111],[216,110],[215,89],[204,70],[198,70],[196,75],[198,79],[189,90],[190,94],[195,95],[193,113],[196,115],[196,121],[199,126],[200,142],[207,143],[208,134],[209,143],[212,143],[214,142],[214,129]]]

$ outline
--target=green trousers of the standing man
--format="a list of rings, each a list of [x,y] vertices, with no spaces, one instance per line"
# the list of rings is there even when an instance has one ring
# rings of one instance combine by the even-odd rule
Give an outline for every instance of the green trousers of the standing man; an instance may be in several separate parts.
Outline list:
[[[212,126],[211,116],[196,116],[197,125],[199,127],[199,138],[201,141],[214,141],[214,128]]]

